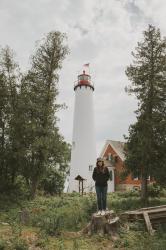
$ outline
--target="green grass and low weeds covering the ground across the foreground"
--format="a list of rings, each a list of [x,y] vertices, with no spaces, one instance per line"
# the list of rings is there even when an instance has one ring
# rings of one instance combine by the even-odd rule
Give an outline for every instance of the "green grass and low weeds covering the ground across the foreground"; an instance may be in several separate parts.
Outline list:
[[[166,204],[166,197],[152,198],[149,206]],[[108,208],[117,214],[141,207],[138,193],[108,194]],[[26,210],[23,223],[19,211]],[[0,196],[0,250],[165,250],[166,228],[159,227],[150,236],[141,222],[121,223],[117,239],[81,236],[78,231],[96,211],[96,196],[63,194],[61,197],[38,196],[33,201]],[[148,248],[147,248],[148,246]]]

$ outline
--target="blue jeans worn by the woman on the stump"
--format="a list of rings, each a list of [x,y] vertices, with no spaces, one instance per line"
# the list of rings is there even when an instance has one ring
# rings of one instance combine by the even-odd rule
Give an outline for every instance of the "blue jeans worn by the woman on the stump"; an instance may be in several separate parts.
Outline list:
[[[106,210],[107,204],[107,186],[95,186],[97,195],[98,210]]]

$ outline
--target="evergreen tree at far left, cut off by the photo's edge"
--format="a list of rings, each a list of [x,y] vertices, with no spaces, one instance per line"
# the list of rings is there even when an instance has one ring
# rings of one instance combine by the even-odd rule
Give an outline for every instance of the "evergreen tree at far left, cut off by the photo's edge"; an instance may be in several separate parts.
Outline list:
[[[0,52],[0,178],[14,183],[18,169],[17,107],[19,67],[14,53],[7,46]]]

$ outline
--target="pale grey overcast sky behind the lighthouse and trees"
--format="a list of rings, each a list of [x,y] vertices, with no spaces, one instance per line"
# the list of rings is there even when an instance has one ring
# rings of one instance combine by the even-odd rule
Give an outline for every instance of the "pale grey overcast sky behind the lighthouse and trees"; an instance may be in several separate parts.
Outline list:
[[[60,132],[72,141],[74,81],[90,63],[95,85],[97,152],[107,139],[124,140],[135,121],[136,99],[124,88],[131,51],[148,24],[166,35],[165,0],[0,0],[0,45],[9,45],[23,70],[29,66],[35,41],[52,30],[65,32],[70,55],[60,72]]]

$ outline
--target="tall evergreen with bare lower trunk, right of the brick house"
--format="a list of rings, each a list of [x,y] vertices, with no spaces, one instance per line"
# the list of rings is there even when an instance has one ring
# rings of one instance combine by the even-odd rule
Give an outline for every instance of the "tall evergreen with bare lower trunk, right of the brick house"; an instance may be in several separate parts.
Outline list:
[[[147,201],[147,178],[159,183],[166,178],[166,39],[149,25],[144,39],[132,52],[126,75],[129,94],[138,99],[137,122],[129,128],[126,167],[141,176],[142,199]]]

